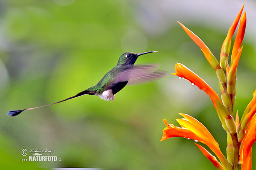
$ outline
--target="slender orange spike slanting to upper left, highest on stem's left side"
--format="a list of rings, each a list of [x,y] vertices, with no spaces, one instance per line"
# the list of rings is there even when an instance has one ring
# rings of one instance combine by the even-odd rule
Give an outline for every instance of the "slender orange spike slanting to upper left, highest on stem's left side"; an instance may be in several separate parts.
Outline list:
[[[226,76],[224,74],[224,71],[221,69],[221,66],[219,65],[219,62],[214,57],[212,52],[209,50],[209,48],[204,44],[204,42],[196,36],[192,31],[190,31],[188,28],[186,28],[182,23],[178,22],[180,26],[184,29],[184,31],[189,35],[189,37],[201,48],[201,50],[204,53],[204,56],[206,57],[207,61],[210,63],[212,68],[214,69],[218,79],[221,83],[226,82]]]

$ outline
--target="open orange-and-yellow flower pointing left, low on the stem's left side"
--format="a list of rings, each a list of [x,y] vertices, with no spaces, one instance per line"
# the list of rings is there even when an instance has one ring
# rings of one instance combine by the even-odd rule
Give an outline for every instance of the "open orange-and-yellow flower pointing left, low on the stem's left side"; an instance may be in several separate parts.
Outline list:
[[[215,141],[212,134],[207,130],[207,128],[192,116],[183,113],[180,113],[180,115],[185,118],[176,119],[181,127],[175,127],[172,124],[168,124],[166,122],[166,119],[163,119],[167,127],[163,130],[163,137],[161,141],[172,137],[194,139],[195,141],[206,144],[212,150],[212,152],[215,153],[225,169],[231,170],[232,168],[230,164],[228,163],[225,156],[221,153],[218,142]],[[218,161],[216,160],[215,163],[216,162]],[[216,164],[221,165],[219,162]]]

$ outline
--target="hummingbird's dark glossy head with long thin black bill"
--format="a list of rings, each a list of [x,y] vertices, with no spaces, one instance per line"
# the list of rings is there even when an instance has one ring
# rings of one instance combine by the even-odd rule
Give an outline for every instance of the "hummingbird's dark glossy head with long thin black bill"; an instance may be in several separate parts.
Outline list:
[[[132,52],[123,53],[119,57],[119,60],[118,60],[117,64],[120,64],[120,65],[133,65],[136,62],[136,60],[137,60],[137,58],[139,56],[141,56],[143,54],[153,53],[153,52],[157,52],[157,51],[148,51],[148,52],[139,53],[139,54],[132,53]]]

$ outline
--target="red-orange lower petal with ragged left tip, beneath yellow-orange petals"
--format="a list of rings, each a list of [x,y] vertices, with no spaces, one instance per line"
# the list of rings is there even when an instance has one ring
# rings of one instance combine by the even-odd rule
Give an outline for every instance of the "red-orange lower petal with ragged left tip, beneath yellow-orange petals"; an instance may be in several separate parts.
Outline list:
[[[163,137],[161,141],[172,137],[183,137],[187,139],[194,139],[204,143],[202,139],[195,135],[195,133],[191,132],[191,130],[182,127],[176,127],[172,124],[168,124],[166,119],[163,119],[163,122],[165,123],[166,128],[164,128],[163,130]]]

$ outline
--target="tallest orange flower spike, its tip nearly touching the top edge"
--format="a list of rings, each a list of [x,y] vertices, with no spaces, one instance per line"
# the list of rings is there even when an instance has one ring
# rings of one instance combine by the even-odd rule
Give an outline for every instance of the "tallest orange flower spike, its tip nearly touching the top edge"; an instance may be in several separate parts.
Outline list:
[[[230,46],[231,46],[231,39],[233,37],[233,34],[236,30],[236,27],[238,25],[239,19],[241,17],[242,11],[244,9],[244,5],[239,11],[239,14],[236,16],[236,19],[230,26],[227,37],[225,38],[222,47],[221,47],[221,55],[220,55],[220,62],[221,62],[221,68],[226,69],[227,68],[227,60],[228,60],[228,55],[230,53]]]

